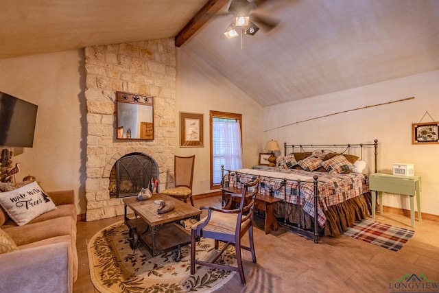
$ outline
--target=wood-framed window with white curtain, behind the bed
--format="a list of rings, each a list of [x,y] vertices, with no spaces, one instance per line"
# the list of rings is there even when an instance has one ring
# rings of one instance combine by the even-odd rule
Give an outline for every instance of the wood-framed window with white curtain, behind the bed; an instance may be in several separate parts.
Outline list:
[[[221,183],[221,165],[224,169],[242,167],[242,115],[210,111],[211,189]]]

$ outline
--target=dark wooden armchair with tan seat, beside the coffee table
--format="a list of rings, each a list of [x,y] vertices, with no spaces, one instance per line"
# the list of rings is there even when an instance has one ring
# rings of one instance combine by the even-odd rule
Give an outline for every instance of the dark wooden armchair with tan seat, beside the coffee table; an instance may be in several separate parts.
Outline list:
[[[253,209],[254,200],[259,190],[260,176],[254,181],[244,185],[242,194],[230,194],[230,200],[223,209],[215,207],[200,207],[200,209],[207,209],[209,211],[206,218],[194,224],[191,228],[191,274],[195,273],[195,265],[211,266],[223,270],[233,270],[239,272],[241,283],[246,284],[244,277],[244,268],[242,266],[241,248],[250,251],[252,260],[256,263],[256,254],[254,253],[253,243]],[[252,188],[249,188],[252,187]],[[232,207],[233,196],[241,197],[239,201],[239,208],[230,209]],[[247,200],[246,200],[247,199]],[[248,204],[246,204],[248,202]],[[246,204],[246,205],[245,205]],[[241,238],[248,231],[250,239],[250,246],[241,245]],[[215,249],[218,249],[218,242],[226,242],[224,247],[215,258],[211,261],[200,261],[195,259],[195,241],[200,237],[215,239]],[[215,263],[218,257],[224,253],[226,248],[230,245],[235,246],[237,267],[226,266],[220,263]]]

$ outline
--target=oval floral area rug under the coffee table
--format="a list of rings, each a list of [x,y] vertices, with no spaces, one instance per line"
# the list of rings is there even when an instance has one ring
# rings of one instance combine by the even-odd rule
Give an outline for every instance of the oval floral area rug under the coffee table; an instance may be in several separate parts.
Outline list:
[[[215,256],[214,242],[200,239],[195,248],[198,259]],[[220,247],[221,248],[221,247]],[[190,273],[190,245],[182,247],[182,257],[174,261],[174,252],[151,257],[143,244],[130,248],[128,228],[112,224],[88,242],[91,281],[99,292],[212,292],[228,282],[235,272],[197,266]],[[235,248],[229,248],[218,260],[236,266]]]

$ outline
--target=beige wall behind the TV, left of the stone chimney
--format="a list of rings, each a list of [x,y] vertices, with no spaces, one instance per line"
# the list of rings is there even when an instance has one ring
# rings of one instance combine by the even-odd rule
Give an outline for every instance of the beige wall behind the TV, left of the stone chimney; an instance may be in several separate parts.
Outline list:
[[[47,191],[74,189],[84,213],[83,50],[0,60],[0,91],[38,105],[34,147],[23,149],[16,181],[31,174]],[[79,200],[80,199],[80,200]]]

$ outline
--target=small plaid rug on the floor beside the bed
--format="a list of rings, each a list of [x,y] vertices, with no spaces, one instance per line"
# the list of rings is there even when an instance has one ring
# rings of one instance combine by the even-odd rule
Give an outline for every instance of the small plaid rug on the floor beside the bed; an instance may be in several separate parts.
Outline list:
[[[414,231],[371,220],[362,220],[355,226],[348,228],[344,235],[398,251],[414,235]]]

